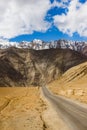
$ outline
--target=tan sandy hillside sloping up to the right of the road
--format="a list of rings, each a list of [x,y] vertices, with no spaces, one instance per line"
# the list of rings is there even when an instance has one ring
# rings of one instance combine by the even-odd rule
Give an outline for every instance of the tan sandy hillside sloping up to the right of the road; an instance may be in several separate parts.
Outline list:
[[[87,62],[69,69],[48,87],[55,94],[87,103]]]

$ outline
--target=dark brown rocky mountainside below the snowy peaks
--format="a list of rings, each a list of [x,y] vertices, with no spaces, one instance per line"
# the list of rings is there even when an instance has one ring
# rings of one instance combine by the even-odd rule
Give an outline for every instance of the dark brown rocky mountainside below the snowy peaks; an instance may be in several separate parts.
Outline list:
[[[69,49],[1,49],[0,86],[43,85],[85,61],[85,56]]]

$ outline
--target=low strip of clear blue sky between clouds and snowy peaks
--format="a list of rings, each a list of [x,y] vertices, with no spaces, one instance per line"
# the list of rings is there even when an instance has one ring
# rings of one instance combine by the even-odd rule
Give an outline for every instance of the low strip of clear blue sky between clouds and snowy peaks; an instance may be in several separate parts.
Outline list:
[[[15,38],[10,39],[10,41],[32,41],[33,39],[41,39],[43,41],[52,41],[52,40],[59,40],[59,39],[66,39],[72,41],[87,41],[86,37],[80,37],[77,33],[75,33],[72,37],[68,36],[67,34],[63,34],[59,31],[56,27],[53,27],[52,30],[48,30],[45,33],[34,32],[31,35],[21,35]]]

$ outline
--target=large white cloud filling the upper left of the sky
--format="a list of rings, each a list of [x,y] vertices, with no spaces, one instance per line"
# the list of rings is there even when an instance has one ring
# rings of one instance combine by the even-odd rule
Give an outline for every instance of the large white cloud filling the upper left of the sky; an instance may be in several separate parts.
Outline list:
[[[50,0],[0,0],[0,37],[12,38],[33,31],[45,32]]]

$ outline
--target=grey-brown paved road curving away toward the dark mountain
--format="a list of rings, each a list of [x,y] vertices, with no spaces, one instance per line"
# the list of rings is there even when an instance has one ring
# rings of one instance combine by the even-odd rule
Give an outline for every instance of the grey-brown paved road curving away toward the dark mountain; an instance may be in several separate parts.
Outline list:
[[[70,130],[87,130],[87,107],[68,100],[61,96],[53,95],[46,87],[42,86],[44,96],[52,103]]]

